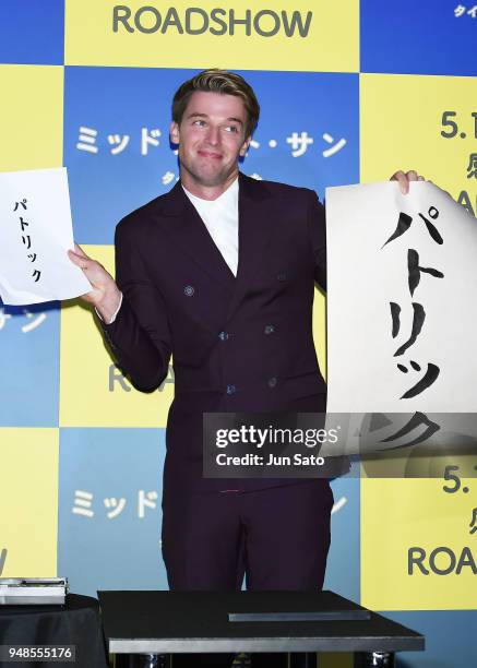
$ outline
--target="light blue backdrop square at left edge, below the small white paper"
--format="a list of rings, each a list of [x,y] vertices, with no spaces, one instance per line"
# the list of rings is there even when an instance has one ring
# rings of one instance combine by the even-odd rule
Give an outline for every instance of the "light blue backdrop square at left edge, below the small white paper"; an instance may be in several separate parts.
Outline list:
[[[58,302],[0,301],[0,427],[57,427]]]

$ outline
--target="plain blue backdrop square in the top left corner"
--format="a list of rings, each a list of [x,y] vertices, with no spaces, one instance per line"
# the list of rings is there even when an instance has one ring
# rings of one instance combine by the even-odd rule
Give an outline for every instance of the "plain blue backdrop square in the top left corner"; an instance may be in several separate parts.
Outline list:
[[[0,63],[63,64],[64,0],[2,0]]]

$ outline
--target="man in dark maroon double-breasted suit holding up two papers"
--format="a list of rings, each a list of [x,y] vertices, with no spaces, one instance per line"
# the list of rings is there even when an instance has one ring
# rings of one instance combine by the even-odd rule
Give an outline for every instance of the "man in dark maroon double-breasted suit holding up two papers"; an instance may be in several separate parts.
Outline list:
[[[180,181],[116,230],[116,281],[76,247],[112,355],[140,390],[165,379],[163,551],[175,589],[321,588],[333,496],[325,479],[202,477],[202,414],[320,413],[312,337],[325,289],[324,211],[313,191],[239,174],[259,119],[247,82],[219,70],[177,91]],[[415,172],[397,172],[403,190]]]

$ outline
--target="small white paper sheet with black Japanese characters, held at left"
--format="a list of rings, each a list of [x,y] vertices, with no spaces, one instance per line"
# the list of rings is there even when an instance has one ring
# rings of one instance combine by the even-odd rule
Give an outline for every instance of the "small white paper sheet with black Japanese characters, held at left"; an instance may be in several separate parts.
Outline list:
[[[67,170],[0,172],[3,303],[41,303],[90,291],[68,249],[74,250]]]

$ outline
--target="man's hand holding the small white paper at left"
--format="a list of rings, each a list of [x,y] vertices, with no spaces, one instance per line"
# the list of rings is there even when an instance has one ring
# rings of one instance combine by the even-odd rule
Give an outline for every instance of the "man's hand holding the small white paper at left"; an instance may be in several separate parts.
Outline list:
[[[68,257],[73,264],[83,270],[93,287],[91,293],[82,295],[81,298],[92,303],[105,322],[110,322],[121,303],[121,293],[115,279],[103,264],[88,258],[77,243],[74,244],[74,252],[72,250],[68,251]]]

